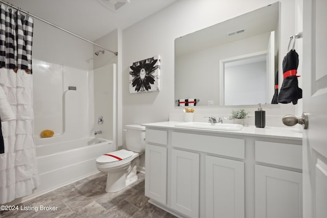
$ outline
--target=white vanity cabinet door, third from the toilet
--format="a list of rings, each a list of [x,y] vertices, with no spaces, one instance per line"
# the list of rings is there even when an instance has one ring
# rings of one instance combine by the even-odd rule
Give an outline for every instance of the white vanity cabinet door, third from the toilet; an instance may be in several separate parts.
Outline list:
[[[205,157],[205,216],[244,217],[244,162]]]

